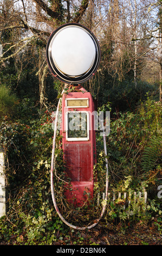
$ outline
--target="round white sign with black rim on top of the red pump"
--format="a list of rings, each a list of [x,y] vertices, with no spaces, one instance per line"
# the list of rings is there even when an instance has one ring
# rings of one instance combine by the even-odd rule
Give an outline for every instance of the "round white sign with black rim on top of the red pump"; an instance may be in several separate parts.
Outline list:
[[[52,74],[65,83],[89,80],[100,63],[100,46],[94,34],[78,23],[66,23],[51,33],[46,47]]]

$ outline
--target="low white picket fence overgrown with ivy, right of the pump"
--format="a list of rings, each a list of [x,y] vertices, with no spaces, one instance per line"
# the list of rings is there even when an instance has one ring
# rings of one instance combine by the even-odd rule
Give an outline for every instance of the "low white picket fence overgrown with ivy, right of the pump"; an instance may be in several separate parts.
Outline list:
[[[102,196],[102,198],[101,198]],[[105,193],[102,195],[98,193],[98,199],[97,199],[97,205],[100,205],[100,202],[105,199]],[[121,207],[122,211],[127,211],[127,216],[134,214],[134,211],[132,211],[133,208],[137,208],[137,214],[140,214],[142,211],[143,214],[145,214],[145,209],[147,205],[147,191],[145,188],[143,188],[142,191],[128,191],[128,192],[111,192],[108,193],[108,200],[107,205],[109,205],[110,202],[113,202],[114,204],[118,204]],[[136,207],[137,206],[137,207]]]

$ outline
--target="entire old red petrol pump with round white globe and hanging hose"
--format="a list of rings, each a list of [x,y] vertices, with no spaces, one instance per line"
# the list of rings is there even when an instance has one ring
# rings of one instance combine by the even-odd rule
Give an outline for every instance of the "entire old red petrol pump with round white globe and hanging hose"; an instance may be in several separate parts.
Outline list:
[[[66,84],[66,93],[64,90],[62,92],[62,149],[67,164],[66,175],[73,190],[67,187],[64,194],[70,203],[81,206],[87,199],[93,198],[93,166],[96,155],[94,102],[92,95],[81,84],[89,80],[98,69],[100,46],[88,28],[78,23],[66,23],[51,33],[46,56],[54,77]],[[75,90],[72,90],[74,87]],[[59,106],[60,100],[56,111],[51,160],[51,193],[57,213],[70,225],[57,208],[53,189],[53,161]]]

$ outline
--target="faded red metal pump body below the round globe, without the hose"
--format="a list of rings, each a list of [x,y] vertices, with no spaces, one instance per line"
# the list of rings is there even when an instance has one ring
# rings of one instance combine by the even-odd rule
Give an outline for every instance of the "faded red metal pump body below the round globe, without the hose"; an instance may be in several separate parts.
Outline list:
[[[62,149],[72,185],[65,196],[70,203],[82,206],[93,198],[96,142],[92,95],[82,87],[78,90],[62,97]]]

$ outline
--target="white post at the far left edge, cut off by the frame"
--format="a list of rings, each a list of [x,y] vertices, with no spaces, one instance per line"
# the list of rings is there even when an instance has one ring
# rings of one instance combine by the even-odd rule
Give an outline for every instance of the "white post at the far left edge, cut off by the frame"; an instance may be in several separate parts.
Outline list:
[[[0,149],[0,217],[5,215],[5,172],[4,153]]]

